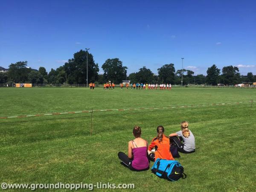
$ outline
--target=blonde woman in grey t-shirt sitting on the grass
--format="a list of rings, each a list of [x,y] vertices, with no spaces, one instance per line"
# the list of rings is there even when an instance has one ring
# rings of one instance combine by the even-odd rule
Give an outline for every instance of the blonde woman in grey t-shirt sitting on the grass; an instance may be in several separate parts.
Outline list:
[[[178,151],[181,153],[195,152],[195,137],[189,130],[189,123],[186,121],[181,122],[180,128],[181,131],[169,134],[170,140],[173,140],[177,144]],[[179,136],[179,138],[177,136]]]

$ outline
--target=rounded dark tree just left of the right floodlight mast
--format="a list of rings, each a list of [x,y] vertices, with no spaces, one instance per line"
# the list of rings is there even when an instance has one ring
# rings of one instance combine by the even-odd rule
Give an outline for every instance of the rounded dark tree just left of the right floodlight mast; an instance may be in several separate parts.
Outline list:
[[[175,81],[175,67],[174,64],[165,64],[161,68],[157,69],[158,78],[160,82],[171,83]]]

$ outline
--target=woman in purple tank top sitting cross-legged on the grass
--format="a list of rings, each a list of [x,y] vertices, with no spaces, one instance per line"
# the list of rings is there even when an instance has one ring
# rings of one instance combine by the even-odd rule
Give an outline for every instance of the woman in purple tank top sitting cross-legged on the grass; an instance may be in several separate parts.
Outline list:
[[[147,170],[149,169],[148,142],[140,137],[140,127],[135,126],[132,132],[135,139],[128,143],[128,156],[123,152],[119,152],[118,157],[124,166],[133,171]]]

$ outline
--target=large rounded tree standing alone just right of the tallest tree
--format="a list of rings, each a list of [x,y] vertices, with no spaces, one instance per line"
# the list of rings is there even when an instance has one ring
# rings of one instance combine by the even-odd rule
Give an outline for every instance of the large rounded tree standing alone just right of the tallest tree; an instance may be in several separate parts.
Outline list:
[[[115,83],[120,83],[126,79],[127,67],[122,66],[119,58],[107,59],[102,65],[105,79]]]

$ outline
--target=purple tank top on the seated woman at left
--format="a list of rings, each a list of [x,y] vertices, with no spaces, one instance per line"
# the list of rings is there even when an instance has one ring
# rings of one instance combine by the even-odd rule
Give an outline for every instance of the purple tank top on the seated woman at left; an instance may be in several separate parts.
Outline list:
[[[149,166],[148,148],[147,147],[133,148],[132,153],[133,153],[134,159],[131,163],[131,166],[137,170],[147,169]]]

